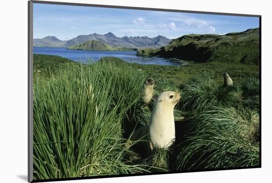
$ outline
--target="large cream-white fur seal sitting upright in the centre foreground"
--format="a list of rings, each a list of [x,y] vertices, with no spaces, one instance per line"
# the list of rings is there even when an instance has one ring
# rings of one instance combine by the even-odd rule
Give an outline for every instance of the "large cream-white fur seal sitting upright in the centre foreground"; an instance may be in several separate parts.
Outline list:
[[[146,150],[153,149],[153,147],[169,147],[176,138],[174,107],[180,98],[181,95],[178,92],[162,92],[156,98],[149,124],[137,129],[131,140],[147,140],[141,142],[141,148]]]

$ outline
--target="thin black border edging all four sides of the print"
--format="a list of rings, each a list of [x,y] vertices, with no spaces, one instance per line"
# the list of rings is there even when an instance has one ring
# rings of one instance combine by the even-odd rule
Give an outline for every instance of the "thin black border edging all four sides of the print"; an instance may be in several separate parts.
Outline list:
[[[32,113],[32,85],[33,81],[33,3],[40,4],[59,4],[59,5],[74,5],[74,6],[91,6],[91,7],[106,7],[106,8],[121,8],[121,9],[138,9],[138,10],[153,10],[153,11],[168,11],[168,12],[183,12],[183,13],[199,13],[199,14],[212,14],[212,15],[229,15],[229,16],[246,16],[246,17],[259,17],[259,80],[260,80],[260,145],[259,145],[259,166],[252,167],[234,167],[234,168],[219,168],[219,169],[199,169],[199,170],[183,170],[183,171],[170,171],[170,172],[159,172],[159,173],[141,173],[141,174],[125,174],[125,175],[100,175],[100,176],[89,176],[89,177],[77,177],[77,178],[60,178],[60,179],[44,179],[44,180],[33,180],[33,118]],[[54,181],[70,181],[70,180],[85,180],[85,179],[101,179],[101,178],[115,178],[115,177],[134,177],[134,176],[145,176],[145,175],[161,175],[161,174],[177,174],[177,173],[190,173],[190,172],[207,172],[207,171],[222,171],[222,170],[240,170],[240,169],[251,169],[261,168],[262,166],[262,133],[261,133],[261,117],[262,117],[262,16],[252,14],[237,14],[237,13],[223,13],[223,12],[208,12],[208,11],[189,11],[189,10],[178,10],[178,9],[161,9],[161,8],[149,8],[149,7],[132,7],[132,6],[115,6],[115,5],[104,5],[104,4],[87,4],[87,3],[72,3],[72,2],[55,2],[55,1],[40,1],[40,0],[29,0],[28,1],[28,182],[40,183],[40,182],[54,182]]]

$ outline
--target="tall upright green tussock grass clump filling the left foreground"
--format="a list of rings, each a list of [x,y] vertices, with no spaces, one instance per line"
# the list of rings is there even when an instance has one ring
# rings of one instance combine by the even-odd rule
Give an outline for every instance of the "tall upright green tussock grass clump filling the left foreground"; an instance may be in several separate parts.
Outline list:
[[[146,172],[126,164],[122,125],[145,76],[111,62],[59,73],[34,82],[34,178]]]

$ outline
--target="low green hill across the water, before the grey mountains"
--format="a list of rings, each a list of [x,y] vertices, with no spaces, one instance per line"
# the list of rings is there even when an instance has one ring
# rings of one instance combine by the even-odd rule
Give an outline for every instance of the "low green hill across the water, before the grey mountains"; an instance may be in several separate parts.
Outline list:
[[[132,48],[125,47],[111,47],[101,41],[88,41],[83,44],[76,46],[68,47],[68,49],[77,49],[77,50],[96,50],[96,51],[128,51],[133,50]]]

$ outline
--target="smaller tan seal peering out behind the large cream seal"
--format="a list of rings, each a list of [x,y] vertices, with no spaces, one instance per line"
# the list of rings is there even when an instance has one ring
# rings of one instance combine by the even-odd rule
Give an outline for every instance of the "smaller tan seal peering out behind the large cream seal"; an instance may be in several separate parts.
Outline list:
[[[149,103],[150,100],[155,97],[154,94],[154,80],[152,78],[148,78],[143,82],[142,90],[141,90],[141,99],[144,103]]]

